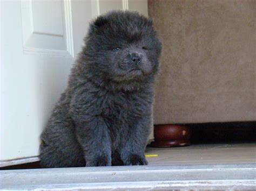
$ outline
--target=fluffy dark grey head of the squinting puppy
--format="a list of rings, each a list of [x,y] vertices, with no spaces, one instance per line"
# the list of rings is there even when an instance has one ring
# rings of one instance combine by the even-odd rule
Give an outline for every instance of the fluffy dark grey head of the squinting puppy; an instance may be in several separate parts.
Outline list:
[[[161,43],[152,20],[137,12],[99,16],[91,23],[85,43],[90,68],[105,80],[142,81],[158,70]]]

